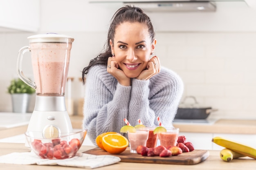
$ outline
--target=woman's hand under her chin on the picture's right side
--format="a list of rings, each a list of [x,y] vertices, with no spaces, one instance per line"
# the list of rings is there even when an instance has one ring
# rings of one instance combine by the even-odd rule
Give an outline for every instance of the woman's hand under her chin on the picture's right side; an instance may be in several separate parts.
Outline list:
[[[156,75],[157,73],[159,73],[160,70],[161,70],[161,65],[160,65],[159,58],[157,56],[154,56],[148,61],[147,68],[144,71],[142,71],[140,75],[136,77],[136,79],[148,80],[154,75]]]

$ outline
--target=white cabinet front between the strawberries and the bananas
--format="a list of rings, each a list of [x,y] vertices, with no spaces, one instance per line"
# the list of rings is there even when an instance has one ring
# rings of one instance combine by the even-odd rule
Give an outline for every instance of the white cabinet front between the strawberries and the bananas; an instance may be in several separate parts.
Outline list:
[[[181,135],[184,135],[186,141],[190,141],[195,149],[212,150],[212,133],[180,132],[179,136]]]

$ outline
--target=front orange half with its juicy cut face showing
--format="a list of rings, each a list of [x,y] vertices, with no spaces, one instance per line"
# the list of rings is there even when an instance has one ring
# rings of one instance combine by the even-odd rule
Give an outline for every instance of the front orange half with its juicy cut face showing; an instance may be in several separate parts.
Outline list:
[[[102,145],[107,152],[111,154],[119,154],[126,150],[129,141],[122,135],[108,134],[102,137]]]

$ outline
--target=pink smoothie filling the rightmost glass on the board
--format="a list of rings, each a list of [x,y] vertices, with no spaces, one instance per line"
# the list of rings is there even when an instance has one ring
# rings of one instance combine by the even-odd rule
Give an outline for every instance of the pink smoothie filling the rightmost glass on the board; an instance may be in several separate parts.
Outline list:
[[[176,146],[178,133],[173,132],[164,132],[158,134],[160,145],[168,147],[168,146]]]

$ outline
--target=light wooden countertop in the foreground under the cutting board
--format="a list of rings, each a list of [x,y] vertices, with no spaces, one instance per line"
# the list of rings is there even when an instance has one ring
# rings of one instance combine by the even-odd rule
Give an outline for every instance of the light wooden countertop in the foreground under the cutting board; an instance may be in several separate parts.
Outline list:
[[[94,148],[94,146],[81,146],[80,152]],[[12,152],[30,152],[24,144],[0,143],[0,155],[7,155]],[[170,165],[156,163],[127,163],[119,162],[110,166],[96,168],[97,170],[159,170],[159,169],[177,169],[177,170],[253,170],[255,169],[256,160],[245,157],[234,159],[231,162],[225,162],[220,159],[220,151],[209,150],[210,156],[202,163],[196,165]],[[14,160],[13,160],[14,161]],[[1,170],[78,170],[83,168],[63,167],[63,166],[38,166],[38,165],[13,165],[1,164]]]

